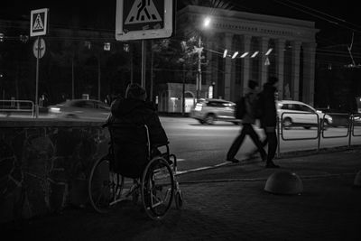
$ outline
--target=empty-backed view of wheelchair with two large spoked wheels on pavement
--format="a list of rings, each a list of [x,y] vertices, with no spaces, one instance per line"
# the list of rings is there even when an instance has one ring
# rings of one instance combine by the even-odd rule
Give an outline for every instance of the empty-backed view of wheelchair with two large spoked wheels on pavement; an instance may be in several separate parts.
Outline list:
[[[106,213],[125,199],[131,199],[134,204],[141,199],[143,210],[154,220],[167,215],[173,199],[176,209],[181,209],[183,197],[175,176],[177,158],[170,153],[169,143],[155,146],[165,147],[166,151],[153,154],[158,149],[152,149],[147,125],[103,127],[110,133],[109,152],[90,171],[91,206],[99,213]]]

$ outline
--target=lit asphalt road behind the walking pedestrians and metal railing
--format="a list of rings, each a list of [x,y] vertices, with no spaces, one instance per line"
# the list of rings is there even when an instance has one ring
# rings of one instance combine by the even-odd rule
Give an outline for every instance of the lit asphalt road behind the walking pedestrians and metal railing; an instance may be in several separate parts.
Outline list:
[[[18,115],[17,117],[29,116]],[[48,117],[40,116],[40,118]],[[7,117],[0,116],[0,118]],[[174,153],[179,161],[178,171],[193,171],[226,164],[227,150],[241,129],[241,126],[229,122],[200,125],[197,120],[190,117],[161,116],[161,122],[170,139],[171,153]],[[257,125],[255,125],[255,131],[261,139],[264,138],[263,130]],[[355,126],[353,134],[358,136],[351,136],[351,144],[361,144],[361,126]],[[349,142],[349,134],[345,127],[329,127],[323,132],[320,142],[317,136],[317,128],[306,130],[295,127],[283,130],[280,135],[280,154],[317,150],[318,144],[321,149],[347,146]],[[255,150],[255,144],[246,137],[236,158],[245,160],[248,158],[248,153],[253,150]]]

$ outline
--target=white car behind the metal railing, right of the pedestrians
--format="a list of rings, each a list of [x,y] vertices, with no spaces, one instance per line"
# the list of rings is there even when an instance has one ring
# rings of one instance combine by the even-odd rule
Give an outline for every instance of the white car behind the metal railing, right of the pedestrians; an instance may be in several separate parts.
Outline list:
[[[302,126],[310,129],[311,126],[317,126],[323,119],[324,125],[332,124],[332,117],[325,115],[313,107],[295,100],[277,101],[278,116],[282,118],[284,128],[292,126]]]

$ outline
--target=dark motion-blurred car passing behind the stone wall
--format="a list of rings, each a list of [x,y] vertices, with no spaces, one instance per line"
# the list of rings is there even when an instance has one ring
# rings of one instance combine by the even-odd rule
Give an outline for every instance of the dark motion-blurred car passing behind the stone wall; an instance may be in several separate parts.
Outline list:
[[[60,118],[86,118],[106,120],[110,107],[95,99],[71,99],[50,106],[49,115]]]

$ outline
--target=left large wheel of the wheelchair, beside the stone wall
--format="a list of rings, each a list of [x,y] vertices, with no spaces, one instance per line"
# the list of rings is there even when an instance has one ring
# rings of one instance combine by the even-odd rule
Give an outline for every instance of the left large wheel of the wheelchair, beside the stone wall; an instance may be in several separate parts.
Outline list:
[[[106,213],[122,192],[124,177],[110,171],[110,160],[99,159],[90,171],[88,195],[90,204],[99,213]]]

